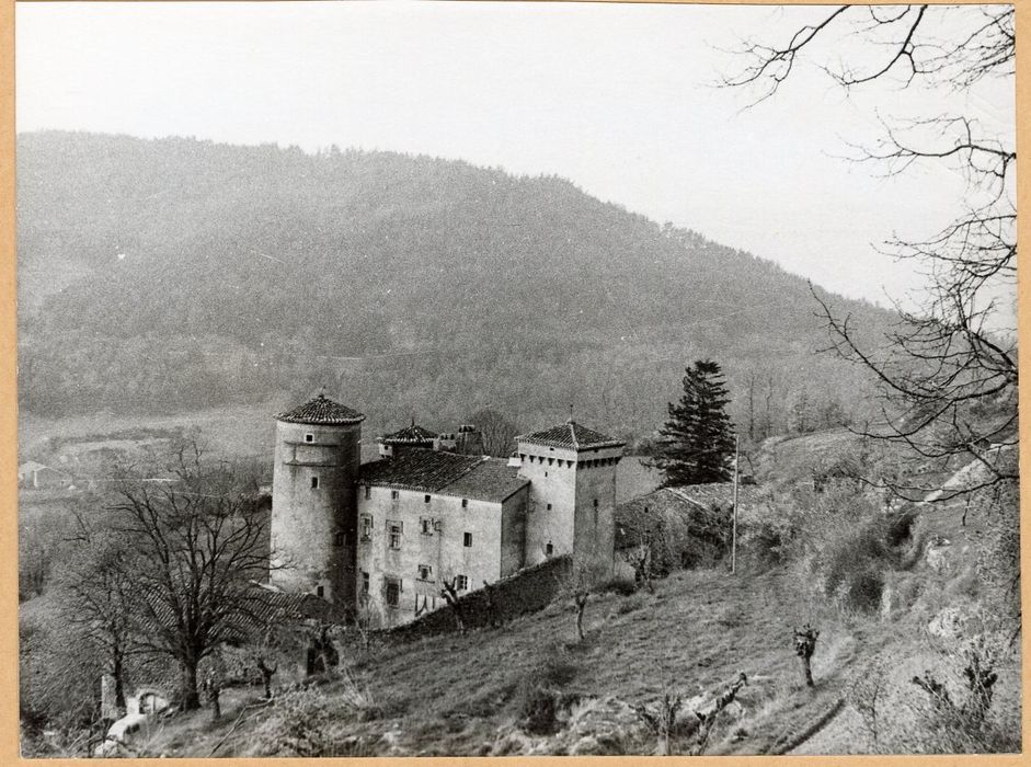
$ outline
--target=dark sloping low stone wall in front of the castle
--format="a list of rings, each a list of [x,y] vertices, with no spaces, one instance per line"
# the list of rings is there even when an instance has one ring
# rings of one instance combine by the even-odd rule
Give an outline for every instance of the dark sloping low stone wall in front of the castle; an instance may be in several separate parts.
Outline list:
[[[571,570],[569,556],[553,557],[491,584],[495,618],[506,621],[545,608],[562,589]],[[482,583],[478,585],[477,591],[459,599],[468,629],[489,626],[491,620],[486,589]],[[455,613],[449,606],[444,606],[380,636],[388,641],[406,642],[456,629]]]

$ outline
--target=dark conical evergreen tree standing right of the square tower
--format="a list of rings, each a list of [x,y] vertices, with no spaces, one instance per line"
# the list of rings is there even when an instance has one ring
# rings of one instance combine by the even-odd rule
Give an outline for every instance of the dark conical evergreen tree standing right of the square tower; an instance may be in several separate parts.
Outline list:
[[[684,396],[669,403],[669,420],[658,431],[655,458],[664,486],[726,482],[734,451],[734,427],[726,415],[726,385],[719,364],[697,360],[685,370]]]

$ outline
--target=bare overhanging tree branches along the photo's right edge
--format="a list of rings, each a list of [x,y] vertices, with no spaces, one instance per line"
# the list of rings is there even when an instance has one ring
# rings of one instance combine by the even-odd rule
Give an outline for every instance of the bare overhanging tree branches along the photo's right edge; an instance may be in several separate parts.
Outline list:
[[[889,80],[955,91],[1013,77],[1012,5],[843,5],[821,13],[782,43],[746,43],[744,67],[723,84],[748,88],[761,101],[806,57],[846,89]],[[841,54],[840,38],[827,39],[835,31],[859,45]],[[821,48],[825,41],[834,48]],[[918,460],[942,468],[955,460],[981,462],[986,472],[978,486],[1013,480],[1015,473],[985,455],[989,446],[1017,443],[1017,341],[998,306],[1017,273],[1012,136],[993,135],[964,114],[882,118],[882,125],[880,141],[857,148],[855,159],[879,163],[887,174],[929,162],[958,170],[967,182],[963,213],[935,236],[885,244],[885,252],[918,262],[928,284],[919,309],[898,308],[900,323],[883,346],[861,337],[850,317],[836,313],[814,290],[830,347],[881,385],[883,423],[862,433],[898,442]],[[930,488],[914,482],[892,489],[918,497]]]

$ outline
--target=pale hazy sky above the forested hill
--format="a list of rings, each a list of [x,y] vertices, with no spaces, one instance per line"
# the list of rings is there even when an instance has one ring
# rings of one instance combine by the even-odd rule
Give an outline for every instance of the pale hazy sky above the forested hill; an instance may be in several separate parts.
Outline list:
[[[877,254],[937,231],[956,173],[843,159],[882,114],[955,108],[1012,135],[1011,83],[841,92],[800,67],[772,100],[713,88],[726,53],[820,8],[551,3],[19,3],[19,130],[391,149],[557,173],[660,222],[883,302]],[[768,37],[766,37],[768,38]]]

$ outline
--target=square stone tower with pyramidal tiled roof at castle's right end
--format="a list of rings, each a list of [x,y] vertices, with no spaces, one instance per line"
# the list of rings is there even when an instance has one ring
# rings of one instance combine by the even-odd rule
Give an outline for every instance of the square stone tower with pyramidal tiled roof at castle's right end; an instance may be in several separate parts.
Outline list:
[[[519,476],[530,480],[527,565],[572,554],[611,573],[616,466],[626,443],[572,419],[516,437]]]

